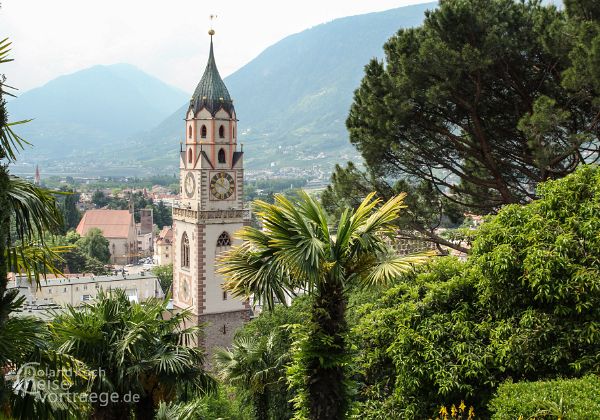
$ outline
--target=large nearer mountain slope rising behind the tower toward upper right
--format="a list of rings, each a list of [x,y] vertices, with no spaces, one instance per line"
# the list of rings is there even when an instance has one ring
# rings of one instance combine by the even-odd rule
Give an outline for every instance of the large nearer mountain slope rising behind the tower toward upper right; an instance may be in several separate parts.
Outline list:
[[[227,77],[246,166],[289,174],[311,168],[328,176],[335,163],[360,159],[348,141],[345,120],[364,66],[383,57],[382,46],[390,36],[421,24],[425,10],[436,4],[315,26],[277,42]],[[215,54],[218,65],[218,49]],[[139,155],[143,166],[174,171],[187,107],[182,104],[153,130],[135,136],[121,155],[145,150]]]

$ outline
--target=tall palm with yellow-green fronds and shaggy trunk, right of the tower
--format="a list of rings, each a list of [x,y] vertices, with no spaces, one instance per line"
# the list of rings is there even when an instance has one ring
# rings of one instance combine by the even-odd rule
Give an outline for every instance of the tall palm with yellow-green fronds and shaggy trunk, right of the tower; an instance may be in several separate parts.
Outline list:
[[[399,257],[385,239],[396,230],[403,198],[378,207],[370,194],[356,210],[343,212],[334,229],[305,192],[296,202],[281,195],[275,204],[258,201],[263,230],[244,227],[238,233],[244,242],[221,259],[224,288],[234,296],[254,295],[267,308],[298,292],[312,297],[310,333],[298,356],[305,396],[297,407],[311,419],[342,419],[347,411],[348,290],[384,284],[426,258]]]

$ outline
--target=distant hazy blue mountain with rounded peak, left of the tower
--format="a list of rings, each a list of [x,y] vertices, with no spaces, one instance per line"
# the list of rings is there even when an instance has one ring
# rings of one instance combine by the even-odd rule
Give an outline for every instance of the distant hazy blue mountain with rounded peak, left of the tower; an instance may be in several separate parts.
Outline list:
[[[36,161],[94,156],[122,145],[173,112],[187,94],[129,64],[94,66],[58,77],[8,102],[11,120]],[[31,158],[31,156],[28,156]]]

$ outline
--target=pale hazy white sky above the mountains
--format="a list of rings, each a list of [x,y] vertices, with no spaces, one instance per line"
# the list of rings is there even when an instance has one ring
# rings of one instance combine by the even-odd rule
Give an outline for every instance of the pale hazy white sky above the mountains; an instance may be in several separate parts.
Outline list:
[[[287,35],[338,17],[431,0],[2,0],[0,39],[13,41],[2,66],[21,92],[96,64],[130,63],[191,92],[208,53],[223,77]]]

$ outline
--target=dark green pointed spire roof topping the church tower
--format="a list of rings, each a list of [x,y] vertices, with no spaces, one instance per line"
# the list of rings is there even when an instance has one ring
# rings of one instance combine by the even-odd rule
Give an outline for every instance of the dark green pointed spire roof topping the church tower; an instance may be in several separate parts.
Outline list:
[[[194,111],[194,114],[202,108],[206,108],[213,116],[220,108],[223,108],[230,115],[233,111],[233,101],[231,100],[231,96],[229,96],[227,86],[225,86],[221,75],[219,75],[219,70],[217,70],[217,64],[215,63],[212,36],[210,37],[208,63],[206,64],[202,79],[200,79],[200,83],[198,83],[194,95],[190,100],[190,107]]]

